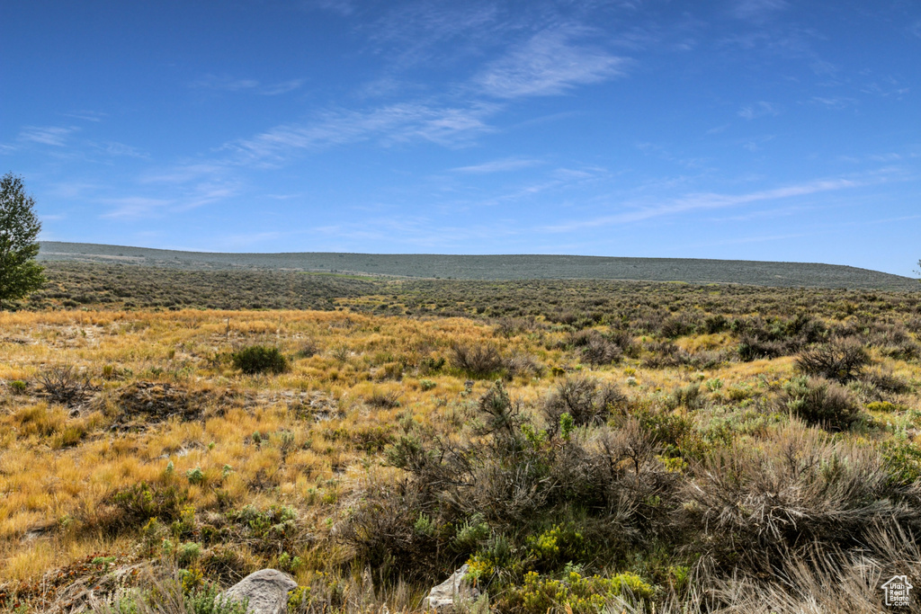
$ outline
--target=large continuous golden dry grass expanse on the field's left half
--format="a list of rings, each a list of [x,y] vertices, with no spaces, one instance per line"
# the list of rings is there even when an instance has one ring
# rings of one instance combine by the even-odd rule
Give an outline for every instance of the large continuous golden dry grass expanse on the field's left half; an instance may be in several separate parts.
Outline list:
[[[429,376],[436,387],[427,391],[412,376],[380,380],[377,367],[401,359],[416,363],[443,353],[451,342],[492,336],[488,327],[468,320],[335,312],[5,313],[0,328],[6,339],[17,340],[0,344],[0,379],[29,382],[24,394],[6,387],[0,414],[0,576],[19,580],[110,548],[106,539],[59,529],[99,525],[114,492],[162,481],[170,462],[178,476],[202,469],[205,485],[225,466],[232,468],[223,487],[239,504],[301,508],[326,501],[324,513],[332,513],[343,477],[369,456],[344,434],[374,428],[387,434],[407,408],[425,422],[439,400],[463,390],[457,377],[443,375]],[[293,355],[307,340],[326,350],[296,359],[278,377],[242,376],[214,360],[252,343],[274,344]],[[340,347],[347,349],[344,360],[331,355]],[[36,377],[56,365],[72,365],[99,392],[78,408],[42,399]],[[123,434],[100,429],[108,422],[106,412],[117,411],[118,392],[132,381],[231,390],[239,398],[202,421],[174,419]],[[305,392],[323,395],[335,411],[320,412],[321,419],[308,411],[304,419],[292,408],[300,402],[295,395]],[[399,408],[367,406],[373,395],[388,392],[399,397]],[[252,443],[257,433],[259,446]],[[284,463],[282,433],[293,438]],[[260,482],[274,486],[253,487]],[[193,486],[190,504],[213,506],[214,493]]]

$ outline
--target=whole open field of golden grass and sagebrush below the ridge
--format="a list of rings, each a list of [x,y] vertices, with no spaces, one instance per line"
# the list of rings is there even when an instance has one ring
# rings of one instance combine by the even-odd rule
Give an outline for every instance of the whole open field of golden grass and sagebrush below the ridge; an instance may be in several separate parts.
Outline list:
[[[418,609],[464,562],[534,614],[871,612],[921,573],[917,293],[135,271],[0,314],[7,610],[104,611],[145,562],[284,569],[299,611]],[[291,279],[324,310],[186,308]]]

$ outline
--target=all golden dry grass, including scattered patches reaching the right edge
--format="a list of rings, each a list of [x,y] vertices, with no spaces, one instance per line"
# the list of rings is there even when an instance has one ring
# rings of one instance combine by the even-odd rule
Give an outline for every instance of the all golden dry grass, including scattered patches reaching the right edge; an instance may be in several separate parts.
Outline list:
[[[507,385],[531,408],[559,374],[589,373],[650,402],[699,384],[708,404],[696,419],[707,423],[730,403],[769,394],[794,375],[790,356],[705,370],[648,368],[629,358],[592,368],[560,347],[562,330],[506,338],[472,319],[347,311],[18,312],[0,313],[0,330],[0,382],[6,384],[0,396],[0,579],[28,582],[90,554],[135,548],[136,529],[111,530],[114,494],[142,481],[185,481],[194,469],[203,480],[189,486],[187,504],[200,513],[219,505],[290,505],[311,532],[325,534],[340,502],[369,472],[395,475],[396,469],[381,467],[381,458],[401,421],[428,427],[460,420],[457,404],[489,387],[482,380],[469,385],[449,367],[431,373],[420,367],[426,358],[447,356],[455,343],[488,342],[504,354],[534,356],[543,375]],[[227,353],[257,343],[292,357],[290,370],[241,375]],[[679,346],[699,352],[732,343],[728,333],[717,333],[682,338]],[[310,344],[318,352],[297,357]],[[916,362],[875,358],[899,377],[921,379]],[[37,378],[60,365],[73,366],[95,388],[76,407],[39,394]],[[395,365],[405,365],[402,377]],[[14,380],[28,388],[15,390]],[[131,423],[120,395],[135,382],[181,389],[194,399],[196,418]],[[377,397],[399,405],[376,405]],[[902,401],[899,416],[888,418],[917,439],[921,403],[914,395]],[[130,428],[112,430],[119,416]],[[299,554],[316,557],[309,546]],[[304,579],[320,566],[298,573]]]

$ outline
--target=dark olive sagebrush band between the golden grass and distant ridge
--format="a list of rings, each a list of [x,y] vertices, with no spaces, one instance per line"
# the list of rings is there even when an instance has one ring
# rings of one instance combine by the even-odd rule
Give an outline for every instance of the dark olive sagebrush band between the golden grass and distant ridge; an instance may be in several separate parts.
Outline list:
[[[648,320],[657,330],[672,312],[699,319],[808,309],[827,318],[872,318],[911,311],[914,292],[772,288],[740,284],[662,284],[613,280],[408,280],[280,271],[181,271],[162,267],[45,262],[49,283],[20,307],[335,309],[393,316],[538,318],[555,323]]]

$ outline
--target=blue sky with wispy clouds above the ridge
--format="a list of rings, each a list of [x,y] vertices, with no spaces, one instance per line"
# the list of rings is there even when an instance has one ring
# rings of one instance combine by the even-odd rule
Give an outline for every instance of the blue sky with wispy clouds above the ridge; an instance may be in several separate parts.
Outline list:
[[[6,2],[41,238],[921,258],[921,5]]]

